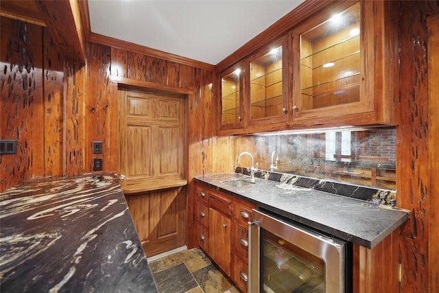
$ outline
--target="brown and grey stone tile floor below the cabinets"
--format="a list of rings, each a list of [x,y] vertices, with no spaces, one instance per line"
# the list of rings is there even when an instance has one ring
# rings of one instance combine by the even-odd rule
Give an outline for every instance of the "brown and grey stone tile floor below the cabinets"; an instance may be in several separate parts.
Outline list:
[[[239,293],[202,250],[182,250],[150,261],[160,293]]]

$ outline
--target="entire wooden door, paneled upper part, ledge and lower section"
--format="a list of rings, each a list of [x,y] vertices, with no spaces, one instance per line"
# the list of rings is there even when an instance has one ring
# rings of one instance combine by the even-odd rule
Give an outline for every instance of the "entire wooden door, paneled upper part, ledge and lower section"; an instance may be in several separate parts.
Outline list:
[[[119,89],[121,186],[147,257],[185,245],[185,97]]]

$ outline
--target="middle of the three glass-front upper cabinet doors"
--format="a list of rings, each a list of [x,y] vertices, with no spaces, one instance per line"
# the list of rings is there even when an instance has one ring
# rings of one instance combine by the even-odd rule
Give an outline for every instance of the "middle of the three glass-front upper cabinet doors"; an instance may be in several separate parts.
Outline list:
[[[288,118],[284,82],[287,72],[285,40],[282,38],[249,58],[250,124],[261,119],[282,121]]]

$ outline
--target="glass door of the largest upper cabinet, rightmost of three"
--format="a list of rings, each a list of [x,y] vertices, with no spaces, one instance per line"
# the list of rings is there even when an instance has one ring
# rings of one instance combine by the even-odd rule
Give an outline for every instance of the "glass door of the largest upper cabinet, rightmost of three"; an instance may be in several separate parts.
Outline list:
[[[298,67],[294,75],[299,78],[294,83],[293,109],[297,116],[331,107],[329,116],[348,114],[340,112],[340,106],[345,106],[344,111],[370,110],[360,91],[365,58],[361,51],[360,3],[324,17],[315,19],[317,25],[311,21],[295,30],[294,46],[299,49],[295,50]],[[324,116],[322,112],[319,117]]]

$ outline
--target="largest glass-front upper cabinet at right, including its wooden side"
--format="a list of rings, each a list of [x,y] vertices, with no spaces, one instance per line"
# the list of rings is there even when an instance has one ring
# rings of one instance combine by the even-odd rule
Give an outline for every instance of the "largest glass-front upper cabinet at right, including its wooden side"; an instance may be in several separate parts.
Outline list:
[[[396,56],[387,24],[382,1],[348,1],[292,30],[291,126],[394,123],[387,85]]]

